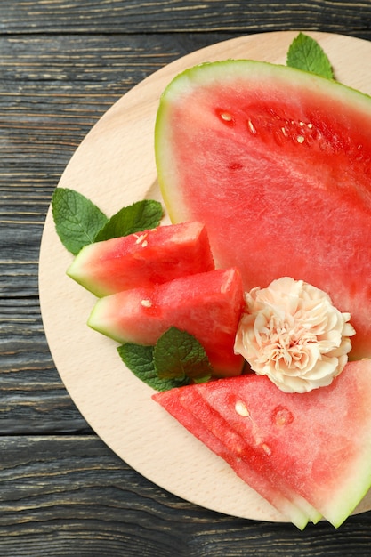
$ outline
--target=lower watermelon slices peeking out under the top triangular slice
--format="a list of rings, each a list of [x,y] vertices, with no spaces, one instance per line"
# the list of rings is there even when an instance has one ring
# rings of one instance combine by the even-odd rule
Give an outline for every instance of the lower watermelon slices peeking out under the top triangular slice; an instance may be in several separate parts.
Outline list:
[[[185,398],[183,398],[183,395],[185,395]],[[190,399],[189,395],[191,396]],[[210,448],[217,456],[221,456],[237,473],[238,477],[254,488],[279,513],[282,513],[286,520],[292,521],[299,529],[304,529],[308,522],[308,516],[293,503],[291,497],[287,498],[280,488],[272,484],[261,473],[256,472],[254,466],[249,465],[239,455],[236,455],[236,452],[230,450],[230,445],[234,448],[243,446],[244,441],[238,436],[238,433],[230,430],[228,438],[224,435],[224,439],[221,440],[217,428],[206,426],[205,421],[212,409],[207,408],[206,412],[196,415],[193,407],[193,395],[198,396],[194,390],[177,388],[171,391],[158,392],[153,395],[153,399],[195,435],[198,440],[202,441],[206,447]],[[219,421],[222,421],[221,416],[219,416]],[[223,424],[224,432],[226,432],[226,427],[228,429],[228,424]]]

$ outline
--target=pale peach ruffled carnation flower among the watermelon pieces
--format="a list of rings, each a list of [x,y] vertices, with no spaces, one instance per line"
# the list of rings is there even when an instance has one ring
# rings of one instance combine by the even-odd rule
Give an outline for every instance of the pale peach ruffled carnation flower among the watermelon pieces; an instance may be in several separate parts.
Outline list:
[[[319,288],[278,278],[246,293],[235,351],[281,391],[307,392],[343,371],[355,334],[349,313],[338,311]]]

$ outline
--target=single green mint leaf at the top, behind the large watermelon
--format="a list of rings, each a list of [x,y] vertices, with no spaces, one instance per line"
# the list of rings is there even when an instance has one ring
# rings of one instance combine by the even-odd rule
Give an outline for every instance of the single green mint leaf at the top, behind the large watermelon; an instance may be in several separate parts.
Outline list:
[[[334,79],[330,61],[322,47],[311,36],[299,33],[287,52],[287,66],[304,69],[328,79]]]

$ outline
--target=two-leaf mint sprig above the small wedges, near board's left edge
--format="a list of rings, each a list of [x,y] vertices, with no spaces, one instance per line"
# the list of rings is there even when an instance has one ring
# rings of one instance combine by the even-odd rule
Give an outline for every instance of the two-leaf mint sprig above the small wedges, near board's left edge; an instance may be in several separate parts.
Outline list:
[[[158,201],[143,199],[110,218],[76,190],[57,188],[52,195],[52,217],[60,241],[71,254],[93,242],[155,228],[163,209]]]

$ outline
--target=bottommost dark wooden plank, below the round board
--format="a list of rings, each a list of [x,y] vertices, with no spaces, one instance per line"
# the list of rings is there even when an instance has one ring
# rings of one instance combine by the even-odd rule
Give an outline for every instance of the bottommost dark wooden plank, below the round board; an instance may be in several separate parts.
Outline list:
[[[94,436],[5,437],[0,452],[2,557],[369,555],[371,513],[273,530],[157,488]]]

